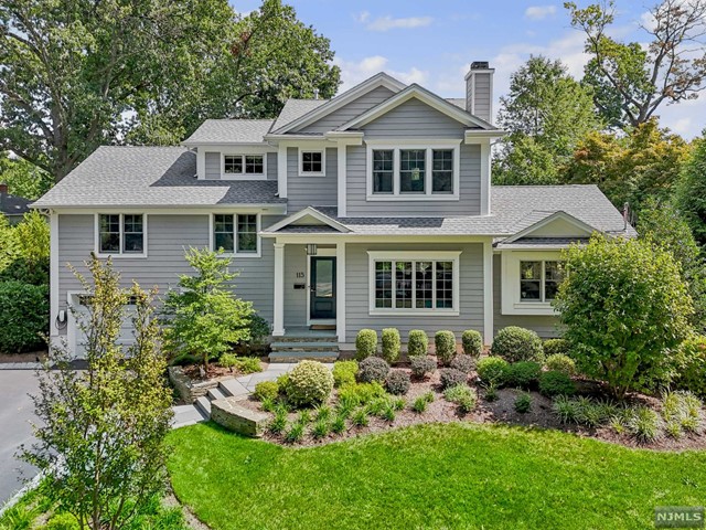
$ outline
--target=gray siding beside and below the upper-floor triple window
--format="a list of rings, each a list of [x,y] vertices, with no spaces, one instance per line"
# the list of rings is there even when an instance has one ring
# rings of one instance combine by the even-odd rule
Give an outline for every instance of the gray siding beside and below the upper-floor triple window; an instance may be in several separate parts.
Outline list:
[[[479,215],[481,209],[481,148],[461,144],[460,200],[458,201],[371,201],[366,200],[366,146],[349,146],[346,151],[346,214],[387,215]]]

